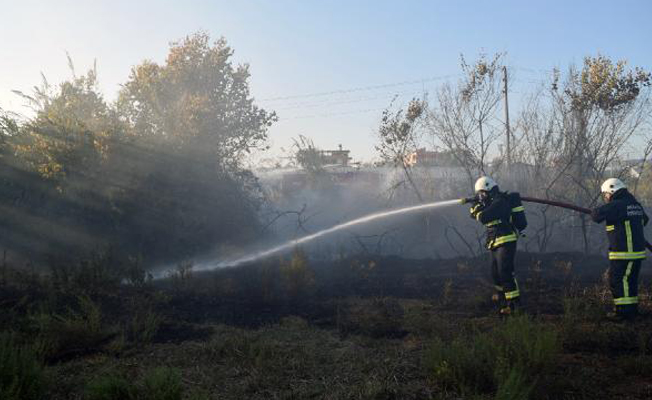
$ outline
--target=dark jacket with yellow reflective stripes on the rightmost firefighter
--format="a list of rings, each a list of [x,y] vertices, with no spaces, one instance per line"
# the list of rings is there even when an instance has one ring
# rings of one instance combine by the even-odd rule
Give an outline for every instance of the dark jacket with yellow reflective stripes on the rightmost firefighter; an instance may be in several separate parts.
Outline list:
[[[634,196],[621,189],[611,201],[593,210],[591,218],[606,221],[610,260],[640,260],[645,258],[643,226],[649,218]]]

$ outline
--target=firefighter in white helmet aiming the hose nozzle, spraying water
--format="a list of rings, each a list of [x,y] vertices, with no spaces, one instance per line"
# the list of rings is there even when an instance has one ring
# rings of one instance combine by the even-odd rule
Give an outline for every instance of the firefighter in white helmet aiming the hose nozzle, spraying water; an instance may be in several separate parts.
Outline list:
[[[518,193],[501,192],[496,182],[483,176],[475,182],[471,218],[487,228],[487,249],[491,251],[491,275],[497,291],[492,297],[501,303],[500,314],[510,315],[520,299],[514,275],[516,241],[525,229],[525,210]]]

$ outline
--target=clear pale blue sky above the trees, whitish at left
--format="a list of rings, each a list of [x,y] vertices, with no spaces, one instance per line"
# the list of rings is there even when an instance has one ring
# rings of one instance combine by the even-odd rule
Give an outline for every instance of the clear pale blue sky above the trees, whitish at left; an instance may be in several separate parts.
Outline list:
[[[461,54],[506,53],[511,115],[547,71],[585,56],[652,69],[647,0],[0,0],[0,10],[0,108],[29,115],[12,90],[29,92],[41,73],[68,79],[66,52],[78,72],[97,62],[113,100],[132,66],[163,63],[170,42],[201,30],[250,64],[257,104],[279,115],[269,157],[305,135],[374,159],[382,110],[455,82]]]

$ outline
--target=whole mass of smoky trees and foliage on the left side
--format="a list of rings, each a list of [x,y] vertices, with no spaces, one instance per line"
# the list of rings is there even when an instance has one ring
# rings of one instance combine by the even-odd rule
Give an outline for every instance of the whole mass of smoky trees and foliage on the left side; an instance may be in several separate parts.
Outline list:
[[[35,115],[0,113],[0,244],[64,264],[112,245],[120,263],[149,266],[254,236],[262,193],[243,161],[276,116],[232,55],[224,39],[189,36],[165,64],[134,67],[116,104],[95,67],[77,75],[70,59],[71,79],[19,93]]]

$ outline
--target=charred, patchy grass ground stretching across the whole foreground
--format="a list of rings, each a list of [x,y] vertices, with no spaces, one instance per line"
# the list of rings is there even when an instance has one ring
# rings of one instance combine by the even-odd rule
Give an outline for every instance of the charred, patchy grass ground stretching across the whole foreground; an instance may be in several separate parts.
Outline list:
[[[605,320],[600,258],[519,254],[520,313],[486,260],[342,257],[161,282],[94,256],[0,287],[3,399],[645,399],[652,318]]]

